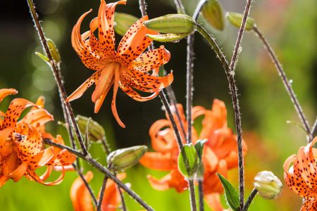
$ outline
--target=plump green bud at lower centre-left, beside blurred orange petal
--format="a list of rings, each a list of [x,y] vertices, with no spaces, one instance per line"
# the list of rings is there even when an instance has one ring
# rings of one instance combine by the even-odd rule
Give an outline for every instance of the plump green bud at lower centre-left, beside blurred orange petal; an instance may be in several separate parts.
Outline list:
[[[111,170],[123,171],[136,165],[146,152],[147,146],[144,145],[121,148],[110,153],[107,162]]]

